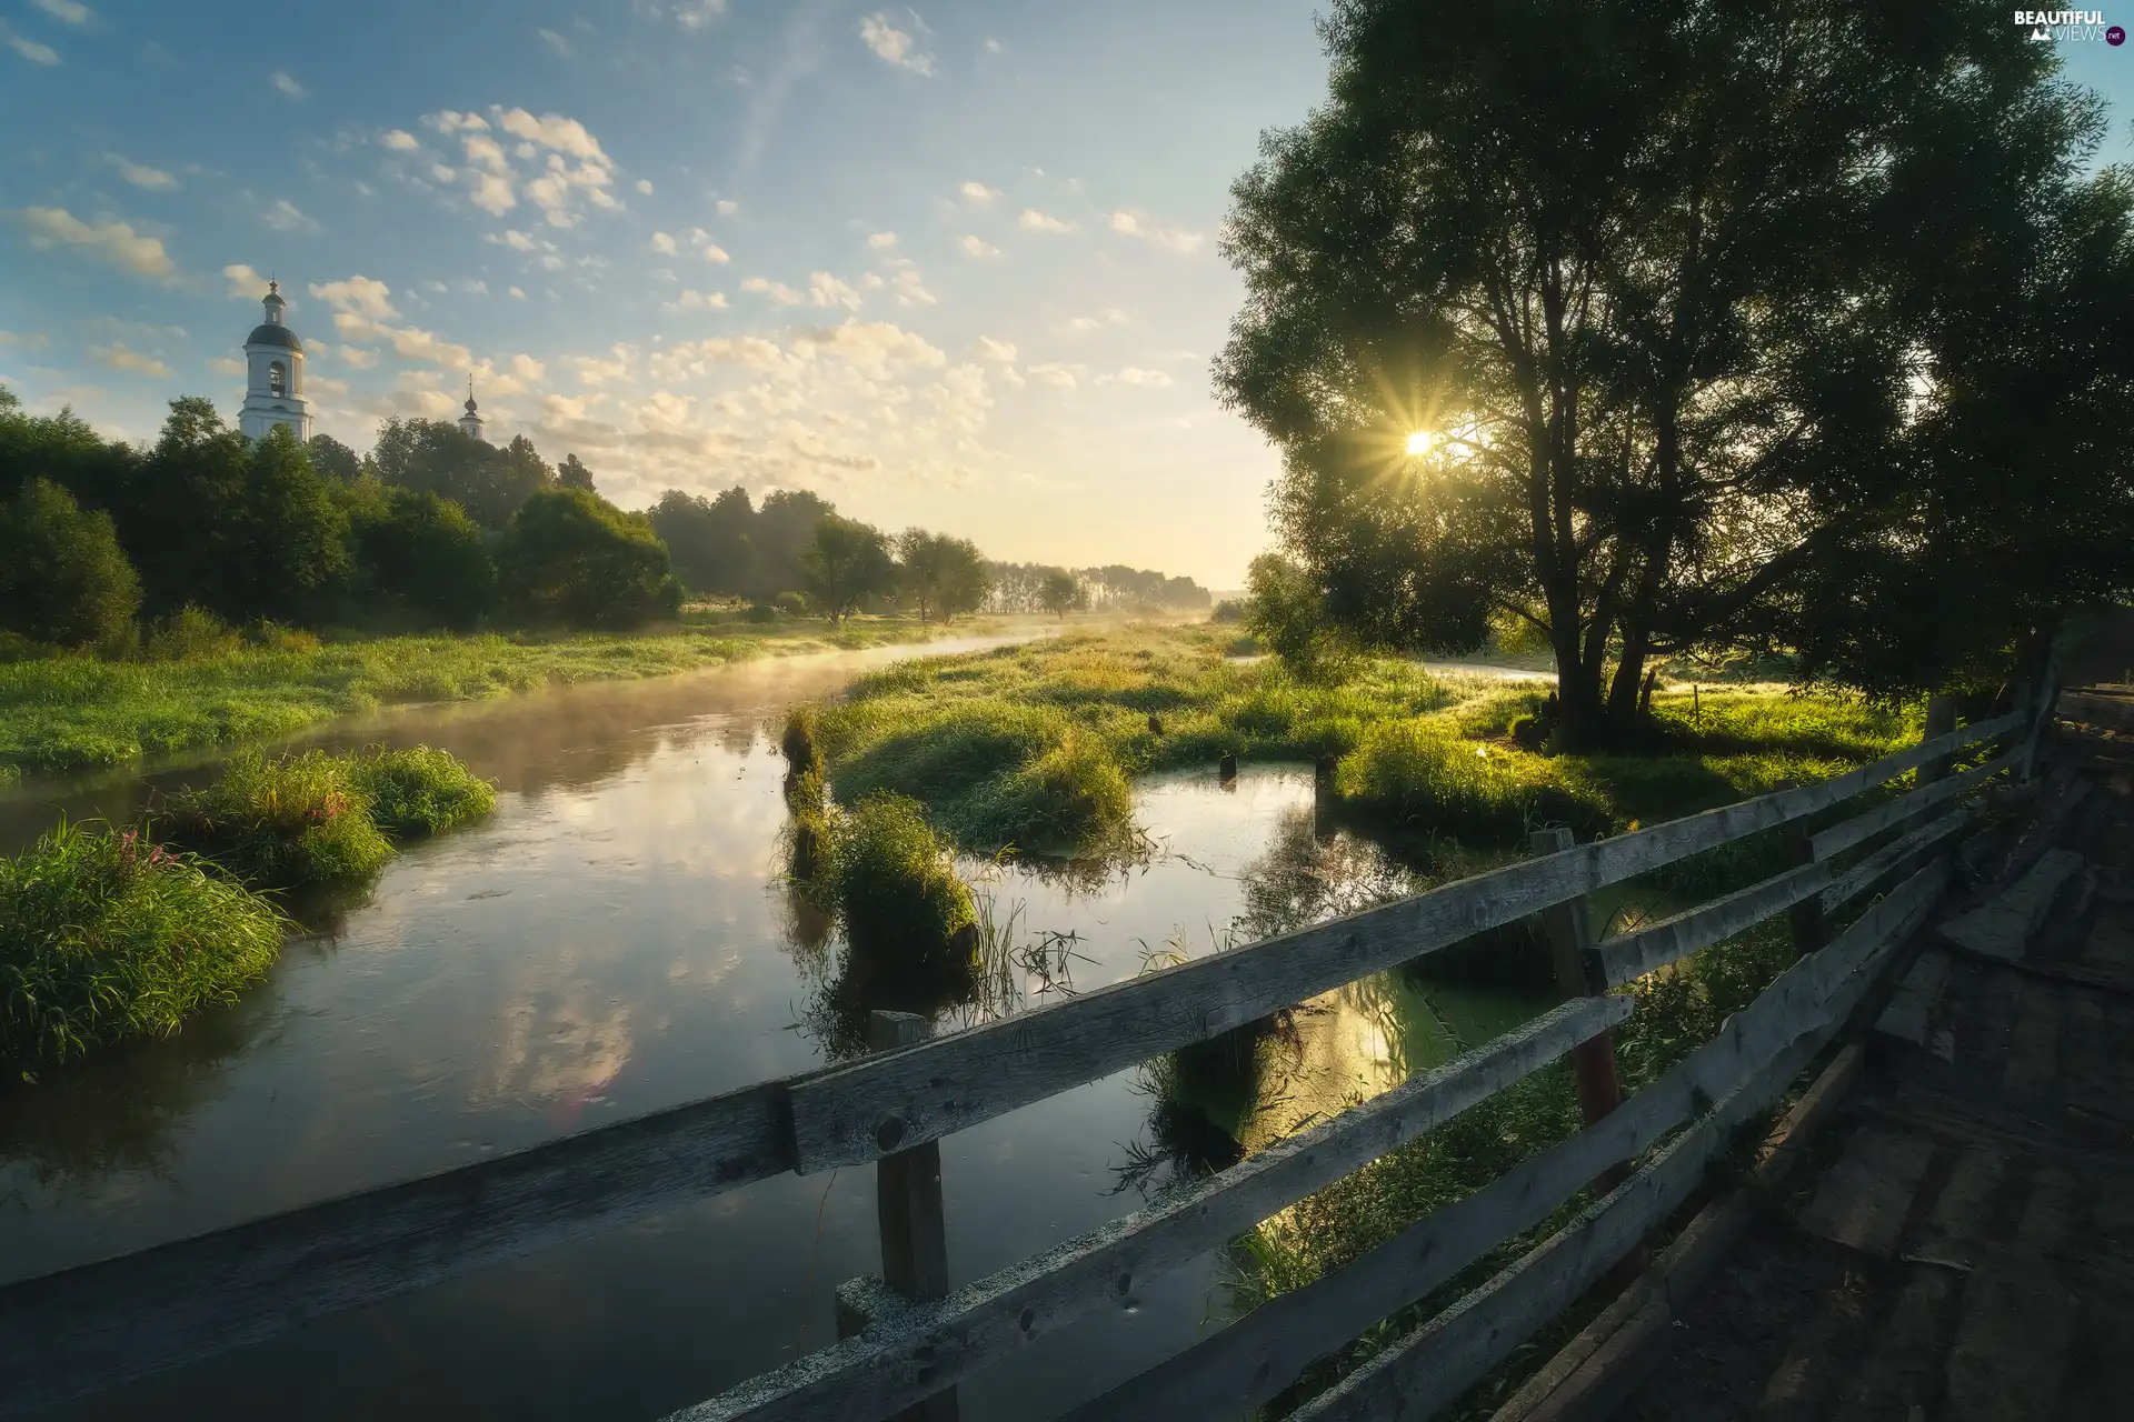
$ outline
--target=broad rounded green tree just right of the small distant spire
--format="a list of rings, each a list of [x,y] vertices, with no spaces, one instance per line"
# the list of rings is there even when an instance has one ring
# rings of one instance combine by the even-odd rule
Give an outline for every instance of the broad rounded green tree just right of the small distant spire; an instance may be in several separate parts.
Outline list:
[[[583,488],[540,490],[512,514],[497,580],[534,620],[636,627],[681,610],[681,582],[651,520]]]

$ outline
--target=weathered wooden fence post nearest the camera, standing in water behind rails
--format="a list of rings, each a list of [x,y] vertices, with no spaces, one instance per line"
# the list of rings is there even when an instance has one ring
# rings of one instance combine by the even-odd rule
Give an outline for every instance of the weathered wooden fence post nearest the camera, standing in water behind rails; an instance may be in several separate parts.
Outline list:
[[[918,1013],[873,1011],[866,1015],[871,1051],[911,1047],[933,1036],[933,1023]],[[881,1281],[896,1300],[947,1298],[947,1219],[941,1211],[941,1143],[926,1141],[892,1151],[875,1162],[875,1207],[881,1224]],[[849,1339],[875,1322],[871,1279],[854,1279],[837,1296],[837,1337]],[[943,1388],[898,1422],[956,1422],[956,1388]]]

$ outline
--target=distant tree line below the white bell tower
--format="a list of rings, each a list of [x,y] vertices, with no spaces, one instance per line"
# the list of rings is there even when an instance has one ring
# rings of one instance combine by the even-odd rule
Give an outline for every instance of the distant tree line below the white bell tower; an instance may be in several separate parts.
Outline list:
[[[811,492],[758,507],[740,488],[670,490],[627,512],[576,454],[548,465],[525,435],[491,446],[442,420],[386,420],[359,456],[286,429],[248,441],[184,397],[156,443],[128,446],[0,388],[0,633],[34,644],[124,650],[186,610],[384,631],[638,627],[685,593],[758,616],[911,605],[947,620],[1001,601],[997,567],[969,539],[890,535]],[[1101,571],[1118,573],[1108,588],[1199,593]],[[1078,582],[1031,610],[1084,603]]]

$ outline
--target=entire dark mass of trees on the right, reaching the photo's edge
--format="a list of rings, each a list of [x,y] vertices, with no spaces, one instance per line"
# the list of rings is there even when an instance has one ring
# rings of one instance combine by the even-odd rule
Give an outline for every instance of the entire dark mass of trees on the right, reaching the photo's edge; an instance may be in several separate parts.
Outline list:
[[[2134,582],[2134,185],[2085,177],[2100,109],[2004,15],[1338,0],[1323,34],[1327,100],[1233,188],[1216,382],[1355,640],[1524,608],[1583,750],[1658,650],[1910,689]]]

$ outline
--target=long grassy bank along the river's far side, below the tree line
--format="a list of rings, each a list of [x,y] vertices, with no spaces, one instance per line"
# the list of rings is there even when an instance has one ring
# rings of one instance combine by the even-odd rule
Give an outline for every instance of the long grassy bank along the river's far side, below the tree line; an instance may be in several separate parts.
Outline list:
[[[0,785],[28,772],[292,736],[412,701],[480,701],[540,686],[694,672],[753,657],[928,642],[984,627],[915,618],[753,625],[685,618],[634,633],[363,637],[222,646],[164,661],[47,657],[0,663]]]

